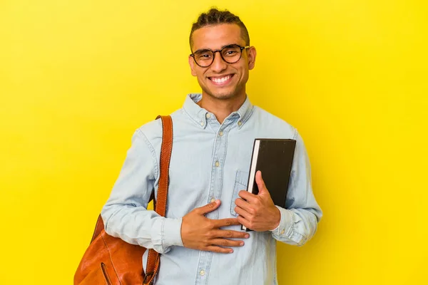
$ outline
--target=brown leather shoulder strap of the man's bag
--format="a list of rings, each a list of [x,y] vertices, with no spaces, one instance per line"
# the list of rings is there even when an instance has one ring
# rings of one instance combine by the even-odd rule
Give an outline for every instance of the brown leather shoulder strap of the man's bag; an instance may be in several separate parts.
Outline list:
[[[159,175],[158,195],[156,197],[155,211],[165,217],[166,198],[168,197],[169,165],[173,150],[173,120],[168,116],[158,116],[162,120],[162,147],[161,147],[161,173]],[[148,250],[146,277],[143,285],[153,284],[160,266],[159,253],[154,249]]]

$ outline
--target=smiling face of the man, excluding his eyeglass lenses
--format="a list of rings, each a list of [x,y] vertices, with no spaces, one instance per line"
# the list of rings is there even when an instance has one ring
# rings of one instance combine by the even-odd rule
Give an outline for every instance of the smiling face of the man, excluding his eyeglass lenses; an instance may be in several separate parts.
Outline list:
[[[245,46],[240,26],[236,24],[207,26],[193,32],[193,53],[204,49],[220,50],[231,44]],[[255,55],[255,48],[251,47],[242,51],[242,57],[236,63],[227,63],[220,53],[215,53],[214,61],[208,67],[198,66],[191,56],[189,64],[192,75],[198,78],[203,95],[225,100],[245,97],[245,83],[250,69],[254,68]]]

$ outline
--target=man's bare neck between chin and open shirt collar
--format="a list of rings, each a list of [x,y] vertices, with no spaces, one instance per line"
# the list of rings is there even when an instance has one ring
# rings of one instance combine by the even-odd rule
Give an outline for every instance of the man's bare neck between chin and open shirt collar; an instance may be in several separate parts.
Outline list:
[[[228,115],[237,111],[240,106],[245,102],[246,95],[239,95],[236,98],[223,99],[214,98],[213,96],[206,95],[203,93],[202,99],[198,102],[200,108],[208,110],[208,112],[213,113],[215,118],[221,124],[228,118]]]

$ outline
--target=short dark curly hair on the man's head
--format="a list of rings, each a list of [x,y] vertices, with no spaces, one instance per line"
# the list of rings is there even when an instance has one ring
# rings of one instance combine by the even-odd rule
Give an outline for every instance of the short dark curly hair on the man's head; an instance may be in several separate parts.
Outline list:
[[[247,27],[245,27],[243,21],[241,21],[238,16],[230,13],[228,10],[219,11],[216,8],[211,8],[207,13],[200,14],[198,20],[193,23],[189,37],[190,49],[193,45],[192,36],[194,31],[205,26],[217,26],[220,24],[237,24],[240,26],[241,36],[245,41],[245,46],[250,46],[250,35],[248,35]]]

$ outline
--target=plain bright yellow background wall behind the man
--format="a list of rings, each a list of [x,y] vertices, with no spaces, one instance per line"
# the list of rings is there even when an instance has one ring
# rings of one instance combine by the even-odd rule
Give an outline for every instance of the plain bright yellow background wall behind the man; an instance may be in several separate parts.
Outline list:
[[[428,284],[426,1],[0,1],[0,284],[71,284],[133,131],[200,90],[190,25],[238,14],[248,93],[295,125],[324,219],[282,284]]]

